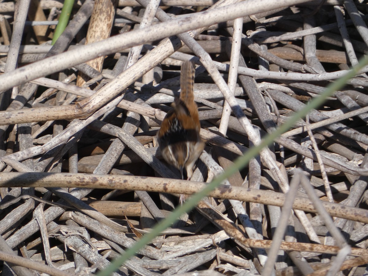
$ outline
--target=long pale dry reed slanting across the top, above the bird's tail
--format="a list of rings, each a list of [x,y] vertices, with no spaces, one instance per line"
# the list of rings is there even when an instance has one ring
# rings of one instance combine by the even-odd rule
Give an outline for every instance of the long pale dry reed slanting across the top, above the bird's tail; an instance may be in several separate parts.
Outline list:
[[[289,0],[284,1],[283,5],[292,6],[305,2],[308,2],[308,0]],[[279,8],[280,6],[282,6],[280,3],[276,3],[273,0],[250,0],[221,7],[216,10],[196,13],[188,18],[173,19],[144,29],[135,29],[132,32],[122,33],[100,42],[84,45],[78,47],[78,49],[73,49],[42,61],[32,63],[31,65],[24,66],[9,72],[8,74],[0,75],[0,91],[9,89],[15,85],[20,85],[35,78],[43,77],[53,72],[58,72],[101,55],[120,52],[122,49],[126,49],[128,47],[163,39],[168,36],[187,32],[195,28],[208,26],[221,21],[223,22],[262,11],[269,11],[274,8]],[[61,63],[60,60],[63,60],[63,62]]]

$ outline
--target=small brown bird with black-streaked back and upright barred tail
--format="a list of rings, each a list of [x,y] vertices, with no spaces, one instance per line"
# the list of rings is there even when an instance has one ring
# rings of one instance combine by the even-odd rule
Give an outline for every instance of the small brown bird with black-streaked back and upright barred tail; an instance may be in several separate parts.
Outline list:
[[[181,178],[185,169],[188,180],[204,149],[204,141],[199,136],[198,107],[194,103],[194,74],[191,61],[185,61],[180,71],[180,98],[175,100],[174,109],[167,112],[157,132],[163,158],[180,170]]]

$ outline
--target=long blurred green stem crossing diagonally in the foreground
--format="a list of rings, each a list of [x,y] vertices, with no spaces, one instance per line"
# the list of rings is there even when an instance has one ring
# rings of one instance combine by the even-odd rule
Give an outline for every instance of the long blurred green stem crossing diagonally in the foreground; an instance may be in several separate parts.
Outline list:
[[[274,132],[266,135],[264,139],[262,139],[261,143],[250,148],[243,156],[240,156],[235,162],[234,166],[231,166],[229,169],[224,171],[223,174],[216,177],[211,183],[209,183],[203,190],[198,191],[192,197],[190,197],[183,205],[178,206],[166,219],[162,220],[160,223],[156,224],[156,226],[149,232],[144,235],[137,243],[135,243],[131,248],[128,248],[124,254],[122,254],[119,258],[115,259],[112,264],[107,267],[105,270],[100,271],[98,273],[99,276],[108,276],[114,271],[116,271],[125,261],[127,261],[131,256],[137,254],[141,248],[143,248],[146,244],[148,244],[153,238],[158,236],[162,231],[164,231],[167,227],[170,227],[178,217],[184,212],[189,212],[198,202],[205,196],[209,194],[210,191],[214,190],[217,186],[219,186],[225,179],[229,178],[233,173],[237,170],[240,170],[244,166],[246,166],[249,161],[254,158],[254,156],[258,155],[262,148],[270,145],[277,137],[281,134],[289,130],[300,118],[304,118],[308,112],[312,109],[316,109],[320,106],[327,97],[333,95],[333,93],[339,89],[341,89],[346,82],[353,78],[364,66],[368,64],[368,56],[365,56],[360,63],[355,66],[353,69],[347,72],[346,75],[339,78],[336,82],[331,83],[325,91],[321,93],[318,97],[312,99],[307,106],[305,106],[302,110],[297,112],[293,117],[286,121],[283,125],[278,127]]]

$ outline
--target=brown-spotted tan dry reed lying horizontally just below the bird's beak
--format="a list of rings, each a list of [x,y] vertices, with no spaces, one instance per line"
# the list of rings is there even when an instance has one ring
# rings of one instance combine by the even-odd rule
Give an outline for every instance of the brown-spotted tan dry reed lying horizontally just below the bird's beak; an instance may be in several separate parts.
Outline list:
[[[88,187],[176,194],[194,194],[205,185],[205,183],[178,179],[109,174],[2,173],[0,179],[0,187]],[[275,206],[283,206],[285,198],[282,193],[226,185],[220,186],[209,196]],[[330,202],[323,202],[323,207],[331,216],[368,223],[368,210]],[[306,212],[316,212],[312,202],[302,197],[296,197],[293,208]]]

